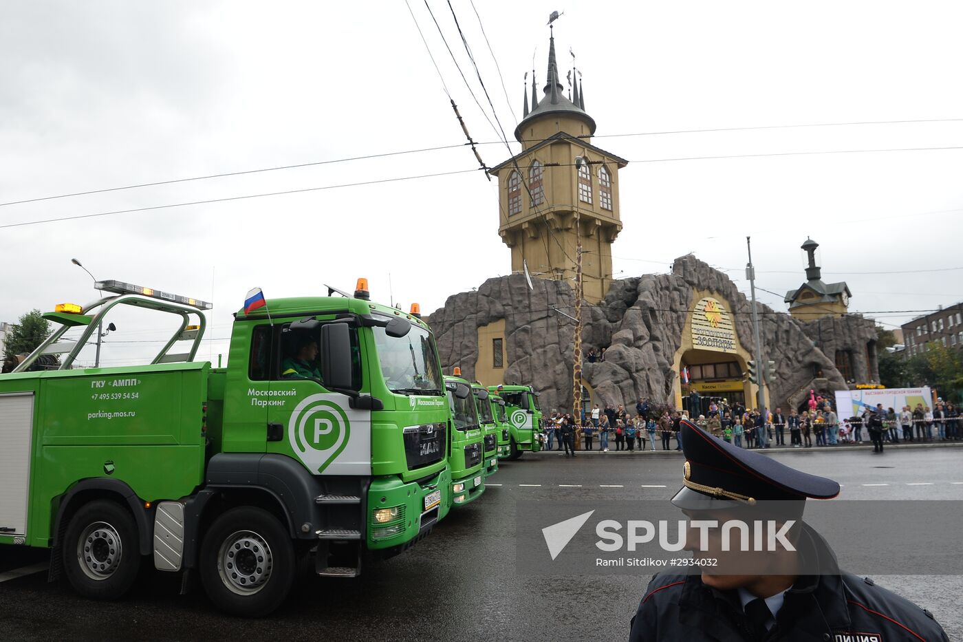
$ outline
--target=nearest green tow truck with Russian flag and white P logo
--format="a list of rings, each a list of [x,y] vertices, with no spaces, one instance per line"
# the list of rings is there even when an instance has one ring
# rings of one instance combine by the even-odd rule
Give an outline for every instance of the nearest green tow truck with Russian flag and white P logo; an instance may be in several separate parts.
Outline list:
[[[50,548],[51,578],[93,599],[124,595],[151,556],[199,575],[221,609],[261,616],[299,558],[351,577],[441,518],[450,415],[434,337],[370,301],[367,281],[353,296],[257,290],[223,368],[194,361],[210,304],[96,287],[110,294],[44,314],[59,328],[0,375],[0,544]],[[144,365],[74,369],[118,307],[173,333]],[[46,355],[57,369],[35,371]]]

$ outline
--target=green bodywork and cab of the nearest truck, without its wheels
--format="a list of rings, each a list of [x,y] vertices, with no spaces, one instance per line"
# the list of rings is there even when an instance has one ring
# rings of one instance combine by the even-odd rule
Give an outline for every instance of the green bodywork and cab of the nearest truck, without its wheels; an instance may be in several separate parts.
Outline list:
[[[174,362],[0,375],[0,412],[13,408],[31,421],[0,436],[25,454],[16,471],[23,492],[0,506],[4,518],[19,515],[22,499],[24,523],[0,533],[0,544],[51,546],[61,503],[82,480],[122,482],[142,504],[189,498],[205,488],[207,462],[218,453],[273,453],[322,480],[362,480],[367,495],[356,510],[366,511],[366,548],[399,548],[424,535],[447,513],[452,488],[449,404],[428,326],[364,299],[267,303],[271,318],[263,308],[236,314],[224,368]],[[319,328],[348,323],[351,394],[278,378],[281,351],[301,332],[290,324],[306,317]],[[383,327],[395,318],[410,324],[402,337]],[[353,407],[352,396],[366,395],[371,410]],[[375,523],[373,511],[386,507],[403,507],[403,515]],[[317,527],[297,536],[312,538]]]

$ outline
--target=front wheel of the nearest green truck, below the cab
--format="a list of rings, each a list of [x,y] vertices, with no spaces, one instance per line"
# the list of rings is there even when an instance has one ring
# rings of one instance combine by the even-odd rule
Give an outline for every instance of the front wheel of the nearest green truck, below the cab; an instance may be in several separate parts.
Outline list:
[[[211,524],[200,548],[207,597],[231,615],[258,618],[287,598],[295,549],[274,516],[252,506],[233,508]]]

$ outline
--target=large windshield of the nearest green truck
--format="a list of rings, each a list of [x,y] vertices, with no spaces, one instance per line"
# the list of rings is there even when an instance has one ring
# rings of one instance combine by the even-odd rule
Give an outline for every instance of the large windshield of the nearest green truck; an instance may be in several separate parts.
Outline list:
[[[381,375],[388,389],[398,394],[441,394],[441,370],[434,337],[416,325],[404,336],[388,336],[372,328]]]

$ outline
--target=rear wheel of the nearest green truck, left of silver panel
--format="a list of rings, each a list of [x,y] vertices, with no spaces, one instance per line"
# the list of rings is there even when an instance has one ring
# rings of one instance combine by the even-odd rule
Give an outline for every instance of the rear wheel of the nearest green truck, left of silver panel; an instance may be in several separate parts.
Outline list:
[[[81,506],[70,518],[62,548],[70,585],[92,600],[117,600],[141,568],[134,516],[107,499]]]

